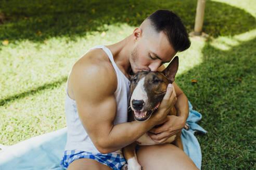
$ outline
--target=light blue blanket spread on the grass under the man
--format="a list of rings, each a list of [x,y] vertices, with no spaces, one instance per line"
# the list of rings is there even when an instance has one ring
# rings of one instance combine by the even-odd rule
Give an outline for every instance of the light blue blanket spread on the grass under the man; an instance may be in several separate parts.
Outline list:
[[[201,119],[201,114],[192,109],[189,103],[188,131],[182,130],[182,143],[184,151],[201,168],[201,149],[195,131],[206,133],[196,124]],[[67,141],[67,127],[21,141],[12,146],[0,145],[0,169],[66,169],[60,167],[60,160]]]

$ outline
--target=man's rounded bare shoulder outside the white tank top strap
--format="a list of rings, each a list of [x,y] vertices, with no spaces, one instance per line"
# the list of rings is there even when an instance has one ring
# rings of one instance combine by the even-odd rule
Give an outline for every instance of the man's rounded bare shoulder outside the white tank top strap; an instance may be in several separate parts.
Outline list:
[[[95,49],[74,64],[70,83],[75,98],[86,95],[92,97],[92,100],[98,100],[99,95],[108,96],[116,91],[117,76],[107,54],[103,50]]]

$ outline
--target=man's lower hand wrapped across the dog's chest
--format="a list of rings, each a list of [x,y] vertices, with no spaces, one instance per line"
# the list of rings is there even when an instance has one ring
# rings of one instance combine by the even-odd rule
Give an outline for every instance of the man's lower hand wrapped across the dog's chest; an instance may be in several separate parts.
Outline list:
[[[162,126],[153,128],[148,132],[149,137],[157,143],[162,143],[170,136],[180,132],[185,126],[186,120],[181,116],[168,115],[161,123]]]

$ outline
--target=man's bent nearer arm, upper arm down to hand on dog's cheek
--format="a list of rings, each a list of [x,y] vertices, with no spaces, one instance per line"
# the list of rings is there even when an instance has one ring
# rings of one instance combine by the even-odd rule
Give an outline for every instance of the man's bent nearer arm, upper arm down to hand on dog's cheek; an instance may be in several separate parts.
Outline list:
[[[113,125],[117,110],[113,94],[117,88],[117,77],[113,67],[107,62],[80,61],[74,65],[70,81],[79,118],[101,153],[121,149],[149,131],[165,118],[173,105],[170,98],[176,97],[172,93],[174,88],[170,87],[159,107],[159,114],[156,114],[158,116],[146,122]]]

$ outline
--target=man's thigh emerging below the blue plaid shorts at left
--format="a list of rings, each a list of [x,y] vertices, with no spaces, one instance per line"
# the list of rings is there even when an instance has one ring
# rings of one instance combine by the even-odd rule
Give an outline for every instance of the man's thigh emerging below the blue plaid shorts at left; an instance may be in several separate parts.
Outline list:
[[[86,169],[86,170],[111,170],[110,167],[108,167],[105,164],[99,163],[96,160],[93,159],[87,159],[87,158],[81,158],[78,160],[74,160],[68,167],[68,170],[72,169]]]

